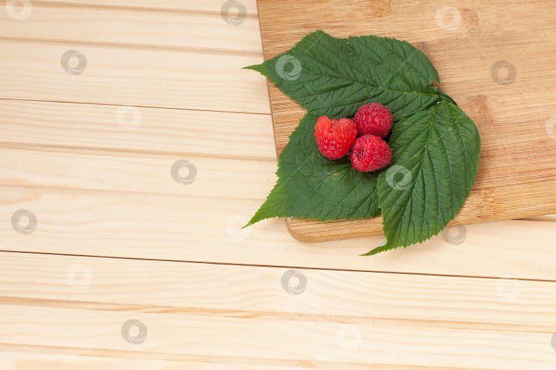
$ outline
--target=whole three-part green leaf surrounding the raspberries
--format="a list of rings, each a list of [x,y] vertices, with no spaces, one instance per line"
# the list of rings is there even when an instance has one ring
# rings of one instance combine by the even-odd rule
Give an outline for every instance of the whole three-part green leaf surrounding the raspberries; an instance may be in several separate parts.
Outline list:
[[[386,242],[366,255],[420,243],[459,212],[478,170],[480,138],[473,121],[432,82],[425,54],[406,41],[378,36],[308,34],[259,71],[308,114],[279,156],[278,182],[248,225],[270,217],[384,217]],[[382,103],[393,116],[386,137],[389,167],[360,173],[349,158],[328,160],[314,140],[317,116],[352,117]]]

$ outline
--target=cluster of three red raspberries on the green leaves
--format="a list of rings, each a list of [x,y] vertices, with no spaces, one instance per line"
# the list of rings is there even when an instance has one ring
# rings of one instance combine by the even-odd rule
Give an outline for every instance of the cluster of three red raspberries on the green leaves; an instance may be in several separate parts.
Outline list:
[[[349,158],[356,170],[376,171],[392,160],[392,150],[382,138],[390,132],[393,121],[388,108],[370,103],[359,108],[353,121],[319,117],[314,126],[314,137],[326,158],[342,158],[351,149]]]

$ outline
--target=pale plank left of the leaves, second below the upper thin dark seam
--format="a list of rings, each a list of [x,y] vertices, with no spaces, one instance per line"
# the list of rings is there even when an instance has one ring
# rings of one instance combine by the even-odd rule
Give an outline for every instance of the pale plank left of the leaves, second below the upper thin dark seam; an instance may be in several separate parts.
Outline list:
[[[240,197],[262,202],[276,182],[273,159],[153,158],[143,153],[107,156],[49,149],[53,148],[0,147],[0,158],[3,159],[0,184],[46,186],[52,190],[95,189],[211,198]],[[226,186],[222,186],[223,183]]]

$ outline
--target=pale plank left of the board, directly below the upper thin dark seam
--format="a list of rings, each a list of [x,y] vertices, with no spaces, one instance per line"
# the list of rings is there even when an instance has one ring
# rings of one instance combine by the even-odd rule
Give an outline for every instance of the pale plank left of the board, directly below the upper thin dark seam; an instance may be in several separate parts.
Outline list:
[[[247,106],[244,102],[238,107]],[[1,141],[23,147],[276,160],[272,122],[266,114],[3,99],[0,110]]]

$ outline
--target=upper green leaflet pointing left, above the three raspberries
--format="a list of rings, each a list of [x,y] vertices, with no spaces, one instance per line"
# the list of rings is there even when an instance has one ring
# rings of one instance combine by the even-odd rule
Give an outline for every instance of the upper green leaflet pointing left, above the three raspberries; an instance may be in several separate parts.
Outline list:
[[[266,75],[317,116],[352,117],[376,102],[397,121],[439,100],[431,85],[439,82],[435,67],[422,51],[395,38],[334,38],[316,31],[287,53],[246,68]]]

